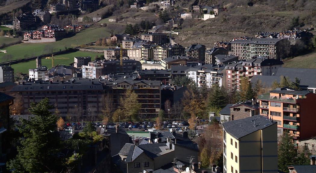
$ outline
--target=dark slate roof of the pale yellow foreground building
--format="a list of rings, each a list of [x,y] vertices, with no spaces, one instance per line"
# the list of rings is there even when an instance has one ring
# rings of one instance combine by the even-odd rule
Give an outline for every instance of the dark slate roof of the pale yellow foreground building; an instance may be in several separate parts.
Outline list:
[[[236,139],[240,139],[243,136],[269,127],[272,124],[276,124],[276,122],[273,122],[273,120],[270,121],[269,119],[262,116],[252,116],[225,122],[223,123],[223,127],[226,132],[234,136]]]

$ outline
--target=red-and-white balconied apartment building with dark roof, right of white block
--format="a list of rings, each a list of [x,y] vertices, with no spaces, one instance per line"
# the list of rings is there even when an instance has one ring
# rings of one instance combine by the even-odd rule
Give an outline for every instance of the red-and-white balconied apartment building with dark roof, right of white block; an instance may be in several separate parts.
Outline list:
[[[251,80],[254,75],[270,76],[275,74],[282,65],[282,61],[267,57],[257,57],[242,63],[229,64],[226,66],[227,89],[239,90],[242,77],[248,77]]]

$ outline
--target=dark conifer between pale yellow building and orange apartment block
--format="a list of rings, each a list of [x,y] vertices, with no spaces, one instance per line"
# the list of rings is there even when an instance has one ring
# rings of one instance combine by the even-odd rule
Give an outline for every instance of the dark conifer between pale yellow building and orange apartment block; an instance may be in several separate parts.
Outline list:
[[[297,151],[293,143],[293,136],[289,135],[288,131],[284,131],[278,145],[278,169],[287,172],[288,165],[295,164]]]

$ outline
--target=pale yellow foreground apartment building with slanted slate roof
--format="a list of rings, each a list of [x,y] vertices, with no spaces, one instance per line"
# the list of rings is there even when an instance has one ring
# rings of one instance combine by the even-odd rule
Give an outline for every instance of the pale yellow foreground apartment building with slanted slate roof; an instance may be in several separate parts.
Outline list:
[[[224,173],[277,173],[276,122],[252,116],[223,123]]]

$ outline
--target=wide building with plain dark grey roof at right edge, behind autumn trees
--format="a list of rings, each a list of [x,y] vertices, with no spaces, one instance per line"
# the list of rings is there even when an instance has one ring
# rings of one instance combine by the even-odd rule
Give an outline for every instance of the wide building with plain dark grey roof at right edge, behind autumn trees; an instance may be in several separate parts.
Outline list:
[[[284,76],[291,81],[295,81],[295,78],[299,78],[301,80],[300,87],[303,91],[316,93],[316,69],[313,68],[279,67],[273,76],[253,76],[251,83],[254,84],[257,80],[261,80],[263,88],[271,89],[273,81],[280,83],[281,76]]]

